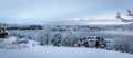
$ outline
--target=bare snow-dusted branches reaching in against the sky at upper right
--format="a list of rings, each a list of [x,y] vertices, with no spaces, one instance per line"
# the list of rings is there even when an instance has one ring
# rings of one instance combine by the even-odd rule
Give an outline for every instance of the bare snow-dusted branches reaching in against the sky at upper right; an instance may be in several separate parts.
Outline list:
[[[125,23],[133,23],[133,12],[130,10],[130,9],[127,9],[127,14],[126,14],[126,16],[129,16],[130,19],[125,19],[125,18],[123,18],[123,16],[121,16],[121,13],[117,13],[117,19],[121,19],[122,20],[122,22],[125,22]]]

